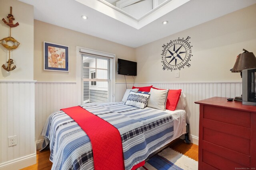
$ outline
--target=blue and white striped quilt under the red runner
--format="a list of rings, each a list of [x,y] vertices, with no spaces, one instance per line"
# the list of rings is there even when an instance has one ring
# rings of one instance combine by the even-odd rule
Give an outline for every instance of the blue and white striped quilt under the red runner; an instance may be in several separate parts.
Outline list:
[[[172,115],[161,110],[148,107],[139,109],[122,102],[90,103],[81,107],[118,129],[126,170],[146,160],[149,154],[170,142],[174,133]],[[50,143],[52,170],[94,169],[90,139],[63,111],[48,117],[42,135],[45,138],[43,148]]]

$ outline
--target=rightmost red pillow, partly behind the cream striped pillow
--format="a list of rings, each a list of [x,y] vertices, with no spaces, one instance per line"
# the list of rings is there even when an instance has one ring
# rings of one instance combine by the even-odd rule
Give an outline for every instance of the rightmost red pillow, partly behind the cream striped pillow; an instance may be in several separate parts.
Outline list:
[[[157,90],[164,90],[164,89],[159,89],[155,88]],[[176,109],[176,106],[178,105],[178,102],[180,100],[180,94],[181,94],[181,89],[179,90],[169,90],[168,96],[167,96],[167,101],[166,101],[166,109],[174,111]]]

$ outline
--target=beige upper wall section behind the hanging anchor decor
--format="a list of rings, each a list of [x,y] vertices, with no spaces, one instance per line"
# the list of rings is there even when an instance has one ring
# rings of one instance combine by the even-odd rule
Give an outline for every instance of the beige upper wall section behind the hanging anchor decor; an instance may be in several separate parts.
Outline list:
[[[5,20],[8,19],[10,6],[12,6],[12,15],[15,18],[14,23],[20,24],[12,28],[11,35],[20,43],[17,49],[11,51],[11,59],[14,60],[12,66],[16,65],[17,68],[11,72],[2,68],[2,64],[7,64],[9,51],[0,44],[0,80],[33,80],[34,8],[17,0],[1,0],[0,17],[5,18]],[[3,39],[9,37],[10,27],[1,20],[0,39]]]

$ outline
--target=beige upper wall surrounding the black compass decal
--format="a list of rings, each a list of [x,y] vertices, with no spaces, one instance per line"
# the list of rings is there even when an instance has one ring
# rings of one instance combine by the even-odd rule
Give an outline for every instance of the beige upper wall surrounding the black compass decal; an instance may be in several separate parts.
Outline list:
[[[255,18],[256,4],[136,48],[136,82],[241,81],[239,73],[229,70],[243,48],[256,55]],[[187,36],[193,46],[191,66],[182,68],[180,78],[175,78],[175,71],[162,70],[162,45]]]

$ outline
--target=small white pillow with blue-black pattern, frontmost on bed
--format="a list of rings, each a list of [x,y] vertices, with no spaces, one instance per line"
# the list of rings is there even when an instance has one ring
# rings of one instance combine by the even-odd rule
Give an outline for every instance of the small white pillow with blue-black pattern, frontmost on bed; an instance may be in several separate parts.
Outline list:
[[[125,102],[125,105],[144,109],[148,104],[150,94],[142,94],[130,91],[130,94]]]

